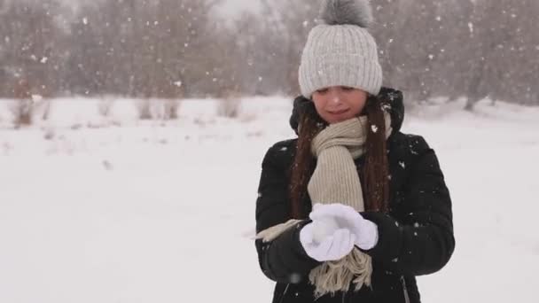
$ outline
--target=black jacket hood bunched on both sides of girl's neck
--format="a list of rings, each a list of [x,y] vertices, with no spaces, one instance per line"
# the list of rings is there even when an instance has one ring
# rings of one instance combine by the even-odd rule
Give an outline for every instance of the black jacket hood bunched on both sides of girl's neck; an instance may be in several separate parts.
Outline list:
[[[379,97],[382,100],[387,100],[387,106],[384,106],[384,109],[391,115],[391,127],[393,128],[393,132],[400,131],[402,122],[404,121],[404,101],[402,91],[383,87],[380,89]],[[293,100],[290,126],[293,128],[296,135],[298,134],[300,113],[307,110],[309,106],[314,107],[314,104],[306,97],[300,96]]]

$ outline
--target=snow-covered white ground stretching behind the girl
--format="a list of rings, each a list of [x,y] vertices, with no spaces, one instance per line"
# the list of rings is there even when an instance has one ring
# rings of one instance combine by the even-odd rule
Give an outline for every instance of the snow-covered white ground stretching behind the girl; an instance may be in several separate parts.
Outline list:
[[[246,99],[238,119],[185,101],[167,122],[138,121],[130,100],[105,119],[97,102],[14,130],[0,101],[0,302],[269,302],[249,237],[262,156],[293,136],[289,101]],[[403,127],[437,151],[454,200],[457,249],[419,278],[423,301],[538,302],[539,109],[457,108]]]

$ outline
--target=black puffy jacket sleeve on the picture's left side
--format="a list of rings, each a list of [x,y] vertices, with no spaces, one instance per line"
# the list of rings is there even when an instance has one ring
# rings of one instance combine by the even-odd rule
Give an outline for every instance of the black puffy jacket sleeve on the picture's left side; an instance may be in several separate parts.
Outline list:
[[[256,200],[256,232],[268,229],[290,219],[288,178],[285,152],[274,145],[262,161],[262,175]],[[262,272],[279,283],[299,283],[320,263],[307,255],[300,243],[300,230],[309,221],[300,221],[269,243],[255,240]]]

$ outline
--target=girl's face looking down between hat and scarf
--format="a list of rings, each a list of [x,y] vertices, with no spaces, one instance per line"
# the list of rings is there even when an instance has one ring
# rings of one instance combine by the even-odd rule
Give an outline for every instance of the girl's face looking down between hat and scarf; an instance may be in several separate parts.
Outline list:
[[[316,112],[329,124],[358,116],[367,103],[367,92],[346,86],[318,89],[313,94]]]

